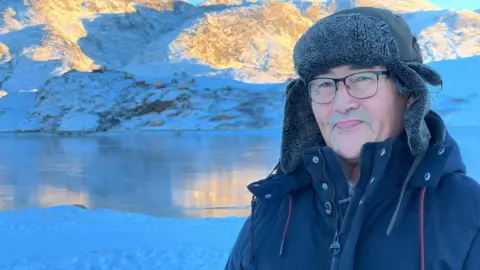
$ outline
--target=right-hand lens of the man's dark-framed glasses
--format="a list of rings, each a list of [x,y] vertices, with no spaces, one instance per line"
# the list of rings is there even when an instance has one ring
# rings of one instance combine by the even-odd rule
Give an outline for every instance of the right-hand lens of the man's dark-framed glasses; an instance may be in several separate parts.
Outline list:
[[[368,98],[375,95],[377,92],[377,81],[377,74],[372,72],[362,72],[347,77],[345,84],[348,86],[348,92],[353,97]]]

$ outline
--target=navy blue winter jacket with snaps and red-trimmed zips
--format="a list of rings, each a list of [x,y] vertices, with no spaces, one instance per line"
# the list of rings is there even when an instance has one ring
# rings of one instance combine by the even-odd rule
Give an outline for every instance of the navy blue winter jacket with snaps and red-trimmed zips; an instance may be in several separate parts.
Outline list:
[[[252,213],[225,269],[479,270],[480,186],[443,122],[427,125],[418,158],[405,135],[366,144],[353,195],[328,147],[250,184]]]

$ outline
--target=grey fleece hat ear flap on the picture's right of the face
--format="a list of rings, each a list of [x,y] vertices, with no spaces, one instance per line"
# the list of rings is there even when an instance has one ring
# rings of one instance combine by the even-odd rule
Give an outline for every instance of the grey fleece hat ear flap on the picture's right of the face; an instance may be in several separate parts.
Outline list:
[[[442,78],[435,70],[419,63],[399,63],[390,67],[397,76],[400,93],[410,94],[412,103],[405,111],[404,127],[408,136],[408,144],[412,155],[427,150],[430,132],[425,117],[430,111],[427,83],[433,86],[442,84]]]

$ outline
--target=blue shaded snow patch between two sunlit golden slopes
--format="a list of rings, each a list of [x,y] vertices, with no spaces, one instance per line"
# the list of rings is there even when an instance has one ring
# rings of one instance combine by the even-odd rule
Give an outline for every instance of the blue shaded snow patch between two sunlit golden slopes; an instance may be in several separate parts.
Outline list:
[[[123,16],[102,14],[84,21],[89,33],[79,40],[82,51],[95,62],[109,69],[133,74],[165,76],[180,70],[193,72],[186,64],[176,64],[166,48],[185,29],[204,15],[201,8],[176,4],[177,12],[162,12],[137,7],[137,12]],[[173,61],[172,61],[173,60]],[[204,67],[206,68],[206,67]],[[213,71],[207,68],[207,71]]]

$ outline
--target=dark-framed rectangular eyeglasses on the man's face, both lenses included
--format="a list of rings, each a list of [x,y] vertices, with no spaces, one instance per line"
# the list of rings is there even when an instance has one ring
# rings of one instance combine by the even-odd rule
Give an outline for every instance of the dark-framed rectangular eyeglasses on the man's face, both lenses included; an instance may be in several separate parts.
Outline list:
[[[313,102],[327,104],[335,99],[338,82],[343,82],[350,96],[357,99],[370,98],[377,93],[379,77],[389,74],[388,71],[364,71],[340,79],[318,77],[308,83],[308,91]]]

